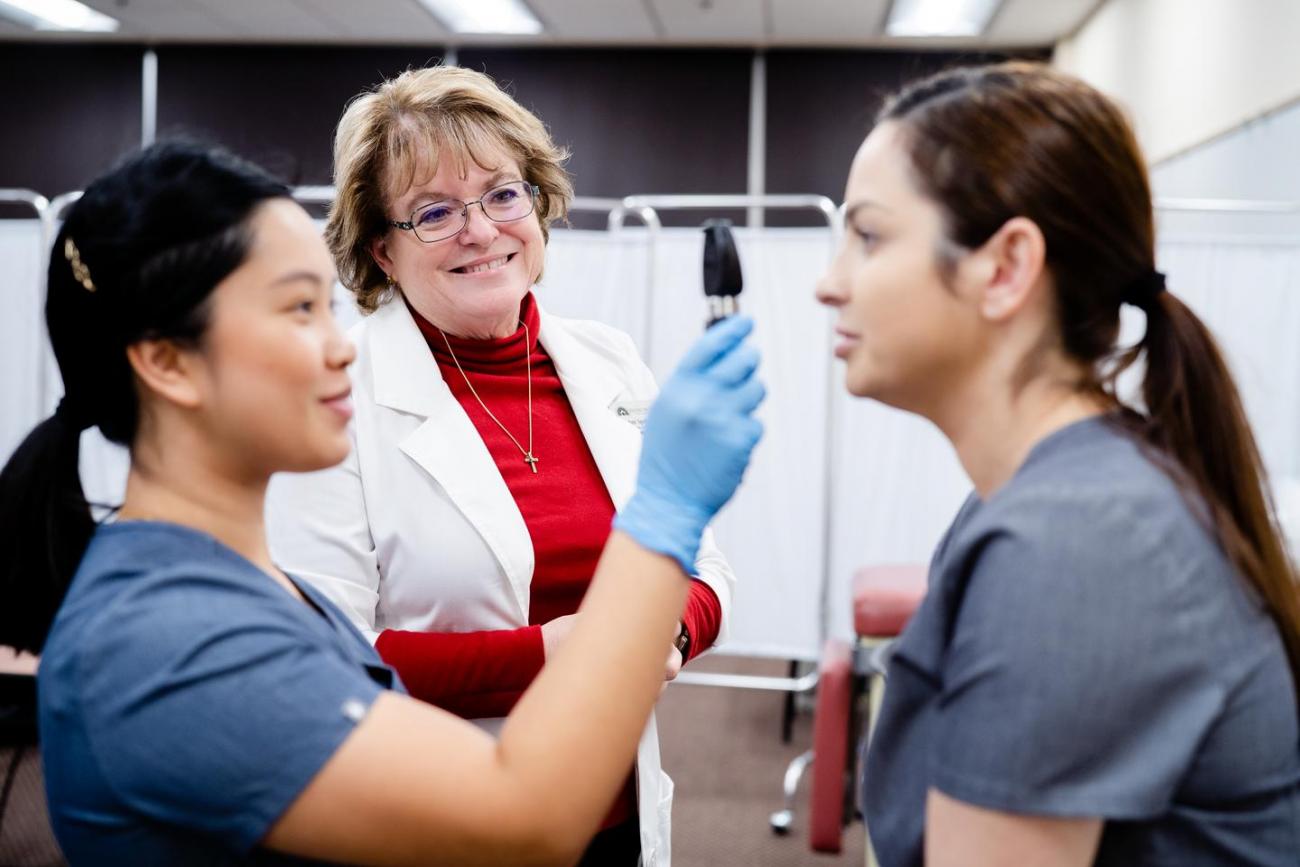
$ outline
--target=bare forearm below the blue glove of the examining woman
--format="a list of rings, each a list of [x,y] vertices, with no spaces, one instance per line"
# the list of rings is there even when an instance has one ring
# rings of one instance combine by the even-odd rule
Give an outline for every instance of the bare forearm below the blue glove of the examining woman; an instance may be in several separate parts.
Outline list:
[[[555,816],[594,831],[625,777],[663,685],[688,581],[671,558],[610,536],[573,632],[510,715],[503,768],[549,792]],[[582,768],[575,773],[575,768]]]

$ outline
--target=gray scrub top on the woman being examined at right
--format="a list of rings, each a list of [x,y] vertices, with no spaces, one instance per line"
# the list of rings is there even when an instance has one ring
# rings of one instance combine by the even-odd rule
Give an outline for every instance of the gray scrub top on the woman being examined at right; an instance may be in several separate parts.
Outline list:
[[[1108,417],[1040,442],[940,543],[863,777],[883,867],[926,793],[1105,820],[1096,864],[1300,864],[1300,727],[1257,594]]]

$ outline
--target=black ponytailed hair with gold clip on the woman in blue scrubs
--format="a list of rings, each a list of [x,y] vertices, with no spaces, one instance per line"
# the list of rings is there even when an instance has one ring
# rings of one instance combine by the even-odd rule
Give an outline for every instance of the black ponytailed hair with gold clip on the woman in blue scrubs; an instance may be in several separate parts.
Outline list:
[[[78,472],[82,430],[135,439],[126,348],[198,344],[212,290],[247,257],[252,212],[287,195],[229,153],[168,142],[94,181],[69,211],[46,295],[64,399],[0,471],[0,645],[40,651],[95,532]]]

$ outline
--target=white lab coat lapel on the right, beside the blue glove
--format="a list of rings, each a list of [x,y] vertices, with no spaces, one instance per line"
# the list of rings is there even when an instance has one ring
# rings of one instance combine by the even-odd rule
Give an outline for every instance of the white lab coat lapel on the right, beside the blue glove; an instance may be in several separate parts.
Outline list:
[[[615,402],[628,396],[627,386],[608,373],[608,359],[575,339],[545,311],[540,313],[538,339],[555,363],[610,499],[621,510],[636,487],[641,455],[641,432],[615,413]]]

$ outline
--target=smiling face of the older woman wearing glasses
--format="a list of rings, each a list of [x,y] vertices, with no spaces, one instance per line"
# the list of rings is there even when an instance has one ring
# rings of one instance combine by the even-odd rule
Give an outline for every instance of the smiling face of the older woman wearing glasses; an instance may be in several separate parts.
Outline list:
[[[432,178],[389,198],[390,220],[407,221],[434,201],[473,201],[503,183],[526,181],[500,146],[484,148],[477,160],[441,151]],[[542,272],[546,242],[536,209],[495,222],[472,204],[465,227],[451,238],[424,243],[413,231],[389,227],[370,251],[422,317],[456,337],[493,338],[519,326],[519,305]]]

